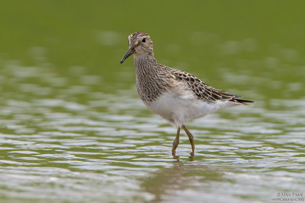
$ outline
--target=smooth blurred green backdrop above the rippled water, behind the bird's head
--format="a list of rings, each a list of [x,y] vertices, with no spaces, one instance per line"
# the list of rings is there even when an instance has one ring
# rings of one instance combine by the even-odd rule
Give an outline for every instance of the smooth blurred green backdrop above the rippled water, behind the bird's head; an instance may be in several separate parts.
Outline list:
[[[43,59],[58,72],[83,66],[110,82],[122,66],[132,73],[131,59],[119,61],[128,35],[145,31],[159,62],[209,78],[216,88],[238,88],[222,84],[225,69],[302,81],[304,70],[296,67],[305,65],[304,6],[303,1],[2,1],[0,53],[2,60],[36,66],[32,48],[42,47]],[[134,74],[125,80],[134,84]],[[240,78],[243,82],[250,81]],[[269,89],[262,83],[247,89],[282,97],[285,85]]]

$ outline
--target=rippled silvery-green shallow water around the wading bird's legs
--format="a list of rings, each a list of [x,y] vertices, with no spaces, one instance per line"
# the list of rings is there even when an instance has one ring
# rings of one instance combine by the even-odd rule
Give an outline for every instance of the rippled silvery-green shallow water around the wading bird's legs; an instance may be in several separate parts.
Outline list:
[[[267,202],[305,189],[304,98],[258,99],[189,122],[195,154],[181,134],[172,156],[176,129],[146,109],[134,85],[107,94],[95,91],[98,76],[75,76],[74,86],[52,69],[7,63],[3,201]]]

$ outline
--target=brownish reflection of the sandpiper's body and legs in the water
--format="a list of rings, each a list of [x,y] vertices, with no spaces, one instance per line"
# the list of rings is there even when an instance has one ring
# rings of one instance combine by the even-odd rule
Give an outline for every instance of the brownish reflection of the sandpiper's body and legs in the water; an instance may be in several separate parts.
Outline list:
[[[153,171],[142,180],[142,188],[155,196],[149,202],[167,202],[167,197],[177,196],[176,192],[184,192],[187,189],[197,191],[196,188],[193,188],[194,183],[202,184],[206,180],[218,180],[222,176],[221,173],[208,168],[202,162],[188,164],[189,161],[185,162],[184,158],[177,156],[176,151],[172,152],[172,156],[174,160],[172,167]],[[194,152],[190,153],[189,160],[194,160]],[[207,187],[206,191],[209,189]]]

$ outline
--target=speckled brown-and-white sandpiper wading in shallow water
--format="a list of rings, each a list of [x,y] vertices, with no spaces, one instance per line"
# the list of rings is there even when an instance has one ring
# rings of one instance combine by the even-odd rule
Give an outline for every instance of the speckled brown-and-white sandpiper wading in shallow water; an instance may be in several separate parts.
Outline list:
[[[154,55],[152,40],[145,32],[128,37],[129,49],[121,59],[123,63],[134,55],[136,87],[142,102],[154,113],[177,127],[172,153],[179,144],[181,127],[185,130],[195,151],[194,137],[184,123],[233,106],[252,106],[255,103],[210,87],[199,78],[182,70],[160,64]]]

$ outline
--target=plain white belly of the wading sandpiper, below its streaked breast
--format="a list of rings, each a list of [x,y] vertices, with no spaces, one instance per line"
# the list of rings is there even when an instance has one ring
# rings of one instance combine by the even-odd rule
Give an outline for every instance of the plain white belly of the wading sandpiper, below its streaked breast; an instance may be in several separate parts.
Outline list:
[[[185,91],[184,95],[165,92],[156,101],[143,102],[152,112],[178,127],[189,120],[204,117],[219,109],[236,106],[236,104],[224,100],[216,102],[198,100],[188,91]]]

